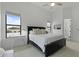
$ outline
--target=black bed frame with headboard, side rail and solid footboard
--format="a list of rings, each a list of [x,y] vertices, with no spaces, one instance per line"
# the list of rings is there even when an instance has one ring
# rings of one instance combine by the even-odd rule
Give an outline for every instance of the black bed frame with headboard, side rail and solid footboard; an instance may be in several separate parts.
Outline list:
[[[42,51],[42,49],[33,41],[29,40],[29,31],[32,29],[45,29],[45,27],[37,27],[37,26],[27,26],[27,44],[32,44],[35,47],[37,47],[40,51]],[[51,54],[54,54],[55,52],[57,52],[58,50],[60,50],[62,47],[66,46],[66,39],[62,38],[60,40],[51,42],[50,44],[45,45],[45,57],[50,56]]]

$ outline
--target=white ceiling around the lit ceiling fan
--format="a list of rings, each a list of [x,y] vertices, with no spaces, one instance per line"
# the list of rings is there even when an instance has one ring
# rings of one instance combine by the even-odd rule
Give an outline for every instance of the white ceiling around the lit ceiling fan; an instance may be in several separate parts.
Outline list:
[[[58,5],[55,5],[52,8],[50,6],[44,6],[45,4],[49,4],[50,2],[32,2],[32,3],[48,11],[54,11],[57,9],[57,7],[60,7]],[[79,2],[62,2],[62,4],[63,5],[61,7],[73,7],[73,6],[79,5]]]

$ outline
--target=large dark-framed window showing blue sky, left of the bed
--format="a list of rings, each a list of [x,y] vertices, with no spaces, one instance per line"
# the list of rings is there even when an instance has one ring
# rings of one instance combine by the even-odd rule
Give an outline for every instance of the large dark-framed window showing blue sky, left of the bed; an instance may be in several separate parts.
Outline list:
[[[21,35],[21,17],[14,13],[6,13],[6,37]]]

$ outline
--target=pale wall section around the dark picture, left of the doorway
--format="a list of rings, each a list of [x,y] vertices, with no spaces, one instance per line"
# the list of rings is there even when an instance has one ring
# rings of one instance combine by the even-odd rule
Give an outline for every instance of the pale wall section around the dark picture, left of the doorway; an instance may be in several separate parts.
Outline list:
[[[54,28],[55,24],[61,24],[63,33],[63,7],[57,6],[56,10],[53,12],[53,22],[52,22],[52,28]],[[53,33],[56,32],[55,29],[53,29]]]

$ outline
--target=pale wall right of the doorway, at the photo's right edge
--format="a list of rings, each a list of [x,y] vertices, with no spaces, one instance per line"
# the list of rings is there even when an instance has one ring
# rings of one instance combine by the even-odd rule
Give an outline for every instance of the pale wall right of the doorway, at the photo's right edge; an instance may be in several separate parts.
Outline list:
[[[79,41],[79,4],[72,9],[72,40]]]

